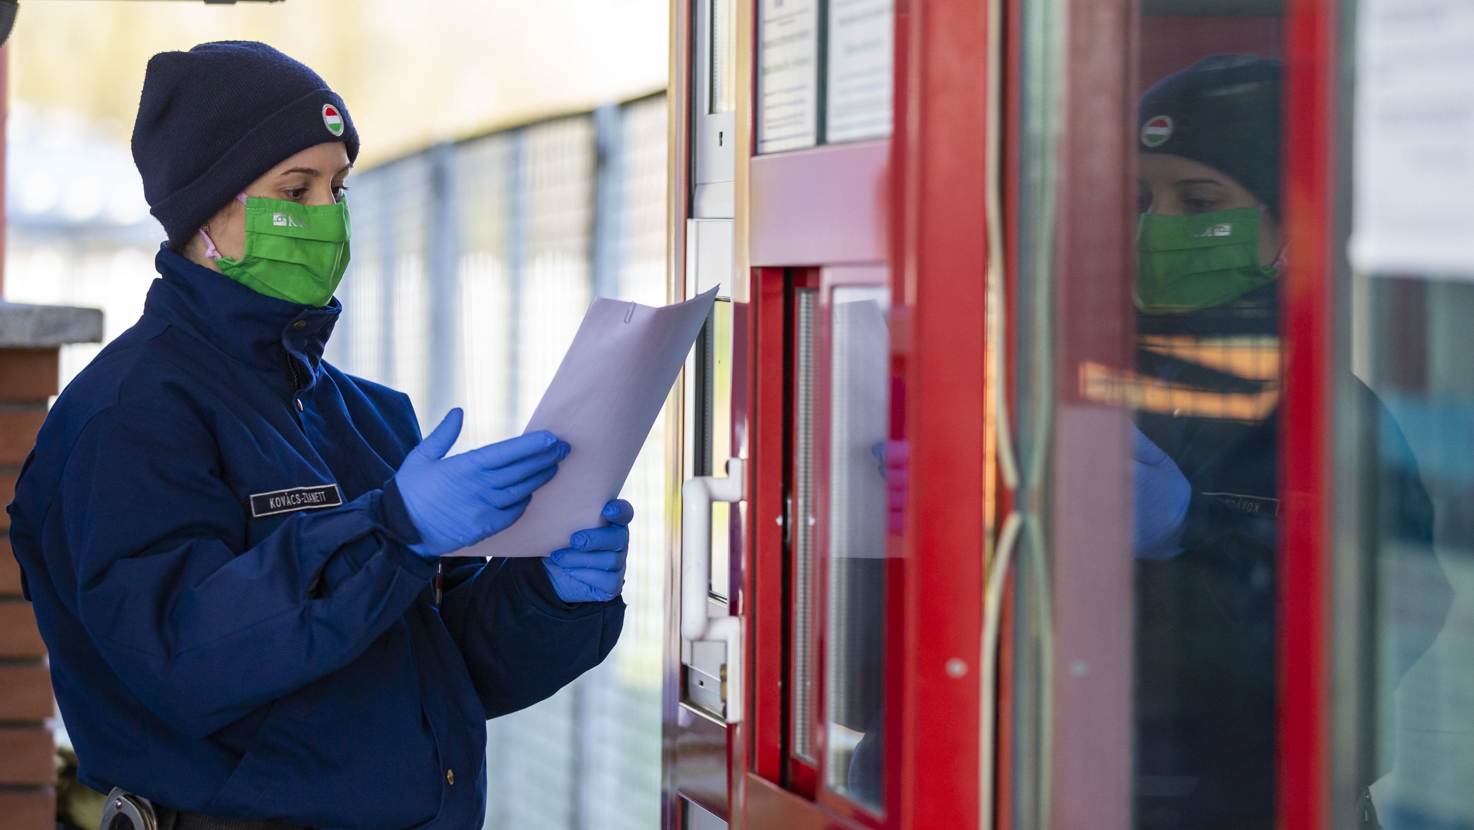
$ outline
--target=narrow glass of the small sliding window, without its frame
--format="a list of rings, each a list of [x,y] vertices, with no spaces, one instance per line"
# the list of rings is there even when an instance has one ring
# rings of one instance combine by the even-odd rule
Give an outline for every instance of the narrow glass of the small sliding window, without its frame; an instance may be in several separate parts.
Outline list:
[[[836,287],[828,330],[825,453],[828,615],[824,688],[830,789],[880,806],[884,674],[889,292]]]

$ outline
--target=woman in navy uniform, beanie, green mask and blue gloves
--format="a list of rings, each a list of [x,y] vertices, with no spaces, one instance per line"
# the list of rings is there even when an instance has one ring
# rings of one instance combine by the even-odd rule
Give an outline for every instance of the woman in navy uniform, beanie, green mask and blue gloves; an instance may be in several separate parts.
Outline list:
[[[156,55],[133,149],[159,279],[9,507],[78,778],[172,830],[481,827],[485,721],[619,637],[629,506],[551,556],[438,566],[569,448],[447,458],[460,410],[422,441],[405,395],[323,361],[358,134],[311,69],[249,41]]]

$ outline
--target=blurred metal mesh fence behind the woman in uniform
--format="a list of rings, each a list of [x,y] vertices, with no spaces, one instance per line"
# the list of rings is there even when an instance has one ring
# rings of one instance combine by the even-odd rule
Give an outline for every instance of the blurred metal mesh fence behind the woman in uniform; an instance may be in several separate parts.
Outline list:
[[[520,432],[595,295],[666,301],[665,96],[498,131],[349,181],[354,257],[327,360],[410,395],[453,451]],[[625,485],[628,610],[613,653],[488,724],[488,830],[660,820],[665,426]]]

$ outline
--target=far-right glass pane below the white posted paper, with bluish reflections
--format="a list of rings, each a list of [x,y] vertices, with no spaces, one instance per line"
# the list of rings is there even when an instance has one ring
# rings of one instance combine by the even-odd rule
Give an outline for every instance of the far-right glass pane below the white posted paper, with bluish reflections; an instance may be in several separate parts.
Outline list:
[[[1374,277],[1359,408],[1372,537],[1365,783],[1383,827],[1471,827],[1474,285]],[[1358,361],[1361,363],[1361,361]],[[1450,612],[1452,607],[1452,612]]]

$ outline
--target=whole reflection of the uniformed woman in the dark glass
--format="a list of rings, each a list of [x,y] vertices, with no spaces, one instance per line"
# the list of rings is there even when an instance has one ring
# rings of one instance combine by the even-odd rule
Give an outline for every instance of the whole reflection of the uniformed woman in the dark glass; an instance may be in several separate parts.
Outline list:
[[[1274,826],[1279,78],[1276,60],[1215,56],[1139,102],[1138,827]],[[1431,562],[1412,454],[1368,402],[1396,494],[1377,522]],[[1446,607],[1442,585],[1417,601]],[[1396,677],[1430,643],[1396,643]]]

